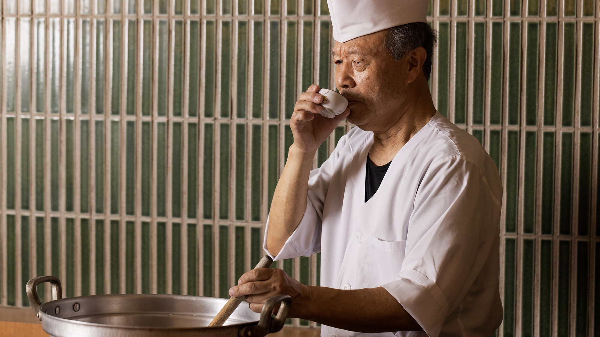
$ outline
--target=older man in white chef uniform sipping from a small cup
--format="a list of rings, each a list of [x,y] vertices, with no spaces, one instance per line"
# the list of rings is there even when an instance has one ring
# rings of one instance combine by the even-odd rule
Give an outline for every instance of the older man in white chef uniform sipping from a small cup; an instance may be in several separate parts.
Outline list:
[[[322,286],[255,269],[229,294],[257,312],[289,294],[289,317],[322,323],[327,337],[489,337],[502,321],[502,185],[479,142],[431,100],[427,0],[328,5],[335,86],[349,106],[326,118],[317,85],[300,95],[264,240],[274,260],[321,252]],[[311,170],[344,118],[356,127]]]

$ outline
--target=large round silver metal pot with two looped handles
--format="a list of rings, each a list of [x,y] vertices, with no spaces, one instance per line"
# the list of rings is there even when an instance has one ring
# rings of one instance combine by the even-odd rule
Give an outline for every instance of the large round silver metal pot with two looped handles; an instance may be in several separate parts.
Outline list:
[[[36,287],[52,285],[52,301],[41,304]],[[239,306],[222,327],[206,327],[226,299],[163,294],[110,294],[62,298],[61,281],[40,276],[27,282],[27,297],[42,329],[53,337],[262,337],[281,330],[292,297],[273,296],[261,314]],[[277,316],[272,311],[277,303]]]

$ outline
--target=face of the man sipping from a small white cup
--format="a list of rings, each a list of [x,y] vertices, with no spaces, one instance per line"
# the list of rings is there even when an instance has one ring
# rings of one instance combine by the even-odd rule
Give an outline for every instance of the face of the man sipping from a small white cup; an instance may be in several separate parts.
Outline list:
[[[362,130],[380,131],[394,123],[406,100],[407,62],[385,49],[387,31],[345,43],[335,41],[335,86],[349,101],[347,120]]]

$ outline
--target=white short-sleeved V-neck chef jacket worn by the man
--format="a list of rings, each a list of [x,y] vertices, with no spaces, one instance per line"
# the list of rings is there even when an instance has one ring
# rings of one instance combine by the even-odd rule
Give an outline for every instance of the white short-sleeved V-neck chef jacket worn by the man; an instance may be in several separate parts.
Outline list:
[[[365,202],[373,133],[353,128],[310,172],[307,208],[274,260],[321,252],[321,285],[385,288],[425,332],[321,336],[481,336],[502,321],[502,183],[475,137],[436,113],[395,155]],[[268,220],[267,220],[268,227]]]

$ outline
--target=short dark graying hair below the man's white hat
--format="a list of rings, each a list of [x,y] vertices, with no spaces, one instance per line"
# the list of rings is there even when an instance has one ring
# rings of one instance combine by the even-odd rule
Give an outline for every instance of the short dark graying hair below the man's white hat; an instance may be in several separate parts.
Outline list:
[[[411,50],[423,47],[427,52],[427,58],[423,64],[423,74],[429,80],[431,56],[436,43],[437,31],[435,29],[425,22],[413,22],[389,28],[388,36],[385,38],[385,49],[392,55],[392,58],[400,61]]]

